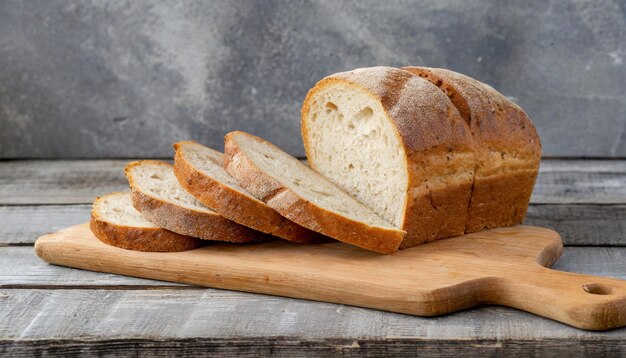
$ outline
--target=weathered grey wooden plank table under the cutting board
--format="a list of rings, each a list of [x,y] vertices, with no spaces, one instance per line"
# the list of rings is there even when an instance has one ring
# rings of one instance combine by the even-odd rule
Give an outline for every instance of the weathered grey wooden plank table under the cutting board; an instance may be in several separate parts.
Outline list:
[[[0,356],[626,355],[625,328],[586,332],[503,307],[420,318],[39,260],[39,235],[125,190],[126,162],[0,162]],[[626,160],[544,160],[526,223],[562,234],[556,268],[626,279]]]

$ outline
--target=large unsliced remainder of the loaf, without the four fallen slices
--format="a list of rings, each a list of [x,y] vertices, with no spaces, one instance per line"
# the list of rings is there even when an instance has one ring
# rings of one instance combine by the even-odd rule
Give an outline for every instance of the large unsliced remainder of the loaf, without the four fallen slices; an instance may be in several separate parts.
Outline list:
[[[402,248],[520,223],[540,156],[532,122],[485,85],[502,113],[471,125],[471,108],[500,107],[463,107],[419,73],[373,67],[318,82],[302,107],[309,165],[405,230]]]

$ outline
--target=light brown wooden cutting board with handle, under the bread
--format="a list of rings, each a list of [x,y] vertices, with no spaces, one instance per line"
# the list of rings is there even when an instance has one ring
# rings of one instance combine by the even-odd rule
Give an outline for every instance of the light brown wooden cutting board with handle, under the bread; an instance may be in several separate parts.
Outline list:
[[[532,226],[439,240],[393,255],[338,242],[286,241],[136,252],[100,242],[88,224],[44,235],[35,244],[37,255],[56,265],[418,316],[498,304],[589,330],[626,325],[626,281],[546,268],[562,247],[556,232]]]

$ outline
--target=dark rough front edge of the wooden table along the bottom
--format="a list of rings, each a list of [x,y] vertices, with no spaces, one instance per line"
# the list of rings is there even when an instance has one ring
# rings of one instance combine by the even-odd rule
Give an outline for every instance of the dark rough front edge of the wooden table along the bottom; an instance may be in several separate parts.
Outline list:
[[[459,354],[462,352],[462,354]],[[0,341],[11,357],[623,357],[623,338],[423,339],[260,337]]]

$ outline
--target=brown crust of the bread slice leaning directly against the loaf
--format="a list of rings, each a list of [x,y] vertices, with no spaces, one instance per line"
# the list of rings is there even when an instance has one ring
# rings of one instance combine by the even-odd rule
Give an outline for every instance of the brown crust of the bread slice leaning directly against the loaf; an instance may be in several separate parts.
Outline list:
[[[237,144],[237,136],[261,141],[276,150],[281,149],[245,132],[236,131],[226,135],[224,139],[226,170],[252,195],[263,200],[289,220],[326,236],[383,254],[398,250],[404,237],[403,231],[370,226],[302,198],[248,158]]]

